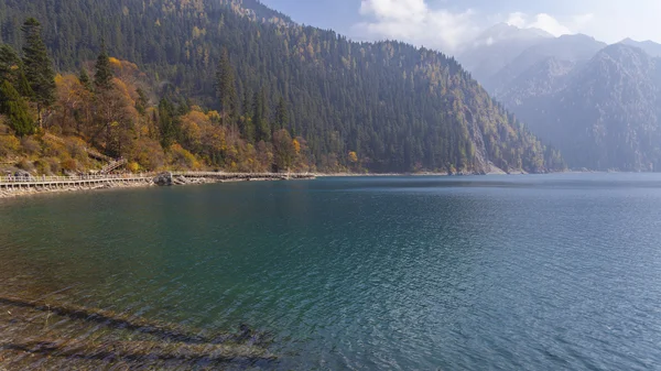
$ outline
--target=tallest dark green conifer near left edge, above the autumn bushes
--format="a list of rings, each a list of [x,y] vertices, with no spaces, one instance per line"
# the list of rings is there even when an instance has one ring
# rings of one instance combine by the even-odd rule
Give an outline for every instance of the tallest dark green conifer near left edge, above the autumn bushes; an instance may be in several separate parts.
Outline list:
[[[48,57],[46,44],[41,36],[41,23],[34,18],[29,18],[21,28],[25,36],[23,47],[23,66],[25,78],[34,94],[40,124],[42,110],[55,102],[55,72]]]

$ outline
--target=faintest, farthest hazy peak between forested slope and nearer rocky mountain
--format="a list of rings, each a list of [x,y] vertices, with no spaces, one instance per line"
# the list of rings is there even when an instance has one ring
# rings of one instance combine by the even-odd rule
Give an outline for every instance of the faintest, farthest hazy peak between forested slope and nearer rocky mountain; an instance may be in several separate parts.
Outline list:
[[[553,35],[539,29],[500,23],[483,32],[457,59],[484,85],[523,51],[551,39]]]

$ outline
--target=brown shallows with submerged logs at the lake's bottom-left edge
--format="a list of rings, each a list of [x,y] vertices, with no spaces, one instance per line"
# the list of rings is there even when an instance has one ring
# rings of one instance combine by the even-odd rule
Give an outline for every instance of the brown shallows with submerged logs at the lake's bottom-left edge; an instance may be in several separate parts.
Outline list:
[[[12,321],[23,318],[25,323],[39,326],[30,325],[34,328],[17,332],[19,336],[4,337],[0,342],[0,356],[4,351],[67,360],[128,361],[141,364],[153,364],[154,361],[254,363],[277,359],[267,349],[267,335],[246,325],[241,325],[236,334],[204,335],[175,324],[63,303],[0,296],[0,305],[10,309],[7,313]],[[74,320],[72,324],[80,321],[82,329],[94,325],[97,330],[100,326],[110,331],[98,330],[101,336],[94,339],[88,337],[89,331],[86,331],[85,338],[71,332],[58,332],[56,328],[48,334],[44,331],[46,327],[39,325],[41,321],[28,319],[25,312],[43,313],[46,324],[51,316],[59,316]],[[134,341],[126,341],[126,337],[122,337],[122,334],[127,335],[126,331],[143,336]],[[132,340],[132,336],[129,339]]]

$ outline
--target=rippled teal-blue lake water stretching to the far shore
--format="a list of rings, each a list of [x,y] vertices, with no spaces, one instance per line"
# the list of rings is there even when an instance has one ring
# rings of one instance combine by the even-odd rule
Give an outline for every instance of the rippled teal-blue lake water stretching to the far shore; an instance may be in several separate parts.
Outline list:
[[[30,290],[249,324],[273,368],[661,369],[661,175],[39,196],[0,200],[0,270]]]

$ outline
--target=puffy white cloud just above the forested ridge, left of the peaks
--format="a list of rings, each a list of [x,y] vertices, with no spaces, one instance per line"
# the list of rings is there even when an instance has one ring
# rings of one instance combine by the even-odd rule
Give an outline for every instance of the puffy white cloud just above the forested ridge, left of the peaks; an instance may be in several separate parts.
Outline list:
[[[452,53],[479,32],[470,9],[453,12],[431,9],[425,0],[362,0],[355,25],[369,39],[394,39]]]

